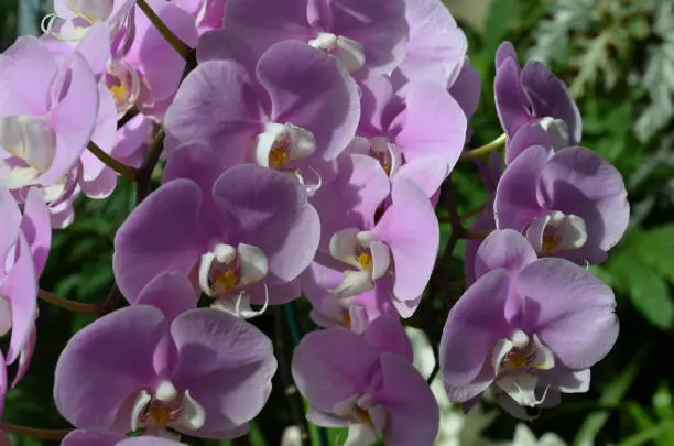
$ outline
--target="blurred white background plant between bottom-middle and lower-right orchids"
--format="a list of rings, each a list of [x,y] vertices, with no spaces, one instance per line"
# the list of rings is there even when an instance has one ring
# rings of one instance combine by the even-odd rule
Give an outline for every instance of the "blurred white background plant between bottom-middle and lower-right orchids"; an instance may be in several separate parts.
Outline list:
[[[430,377],[435,367],[435,356],[428,337],[418,328],[406,327],[405,330],[414,349],[414,367],[423,377]],[[435,446],[488,446],[491,444],[480,435],[496,418],[498,414],[496,411],[485,413],[478,404],[468,415],[464,415],[459,405],[449,402],[439,373],[431,383],[431,391],[441,411],[439,433],[435,439]]]

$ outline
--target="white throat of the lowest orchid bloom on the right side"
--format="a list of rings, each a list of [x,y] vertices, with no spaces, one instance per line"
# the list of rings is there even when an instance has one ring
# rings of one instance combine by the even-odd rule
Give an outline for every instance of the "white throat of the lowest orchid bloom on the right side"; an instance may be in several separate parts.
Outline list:
[[[535,371],[551,370],[555,357],[537,335],[530,337],[518,329],[510,338],[499,339],[491,353],[491,365],[497,387],[519,405],[535,407],[545,400],[550,385],[536,396],[539,377]]]

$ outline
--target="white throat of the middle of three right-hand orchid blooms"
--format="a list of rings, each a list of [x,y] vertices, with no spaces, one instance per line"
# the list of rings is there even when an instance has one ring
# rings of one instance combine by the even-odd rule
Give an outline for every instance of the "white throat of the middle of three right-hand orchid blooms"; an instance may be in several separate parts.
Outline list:
[[[533,220],[525,236],[539,254],[550,255],[583,248],[587,242],[587,228],[581,217],[553,210]]]

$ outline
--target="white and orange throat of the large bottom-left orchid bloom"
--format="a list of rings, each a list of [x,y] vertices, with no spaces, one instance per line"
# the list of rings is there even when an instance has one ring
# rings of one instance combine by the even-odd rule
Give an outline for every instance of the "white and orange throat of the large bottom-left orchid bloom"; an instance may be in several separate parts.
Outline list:
[[[131,409],[131,432],[144,429],[155,436],[172,437],[166,431],[198,431],[206,424],[206,410],[188,390],[178,391],[171,381],[153,390],[143,389]]]

